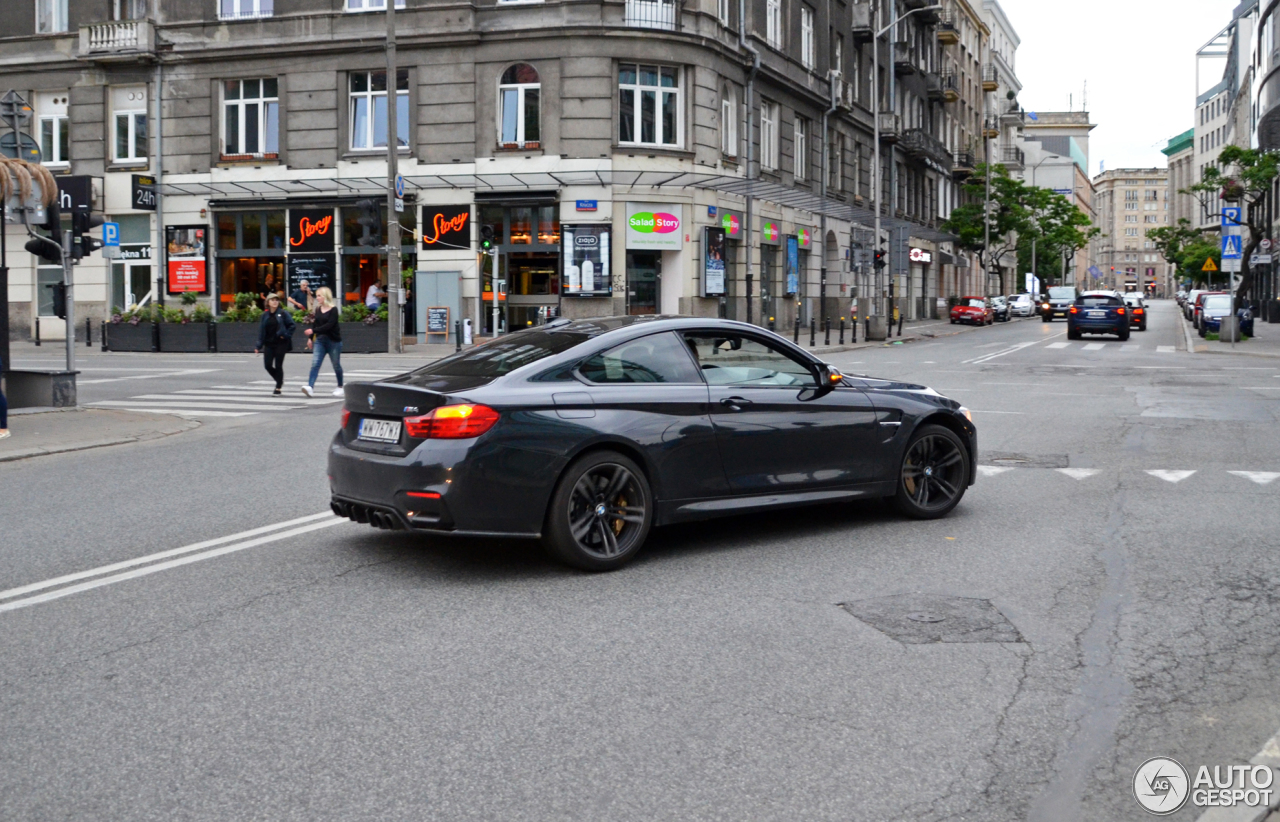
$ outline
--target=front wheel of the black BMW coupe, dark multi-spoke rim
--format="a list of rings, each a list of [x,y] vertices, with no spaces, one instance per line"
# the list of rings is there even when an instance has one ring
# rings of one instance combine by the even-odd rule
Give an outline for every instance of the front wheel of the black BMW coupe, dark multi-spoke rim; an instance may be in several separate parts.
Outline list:
[[[969,485],[969,452],[942,425],[922,425],[902,451],[893,507],[916,520],[936,520],[960,504]]]

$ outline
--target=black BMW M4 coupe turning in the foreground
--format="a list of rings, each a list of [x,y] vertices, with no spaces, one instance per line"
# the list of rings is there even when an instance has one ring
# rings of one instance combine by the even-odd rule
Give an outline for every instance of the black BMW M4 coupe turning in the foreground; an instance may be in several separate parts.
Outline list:
[[[539,538],[608,571],[668,522],[876,497],[945,516],[977,444],[959,402],[845,376],[755,325],[612,316],[348,383],[328,474],[357,522]]]

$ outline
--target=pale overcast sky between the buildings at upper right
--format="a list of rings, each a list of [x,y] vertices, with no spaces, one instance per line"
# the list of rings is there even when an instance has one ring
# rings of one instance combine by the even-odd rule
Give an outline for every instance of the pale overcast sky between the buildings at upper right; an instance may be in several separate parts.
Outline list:
[[[1064,111],[1071,95],[1097,128],[1089,174],[1106,168],[1165,166],[1170,137],[1193,124],[1196,50],[1231,22],[1239,0],[1000,0],[1021,38],[1018,100],[1028,111]],[[974,5],[980,6],[980,0]],[[1204,61],[1202,77],[1221,79]]]

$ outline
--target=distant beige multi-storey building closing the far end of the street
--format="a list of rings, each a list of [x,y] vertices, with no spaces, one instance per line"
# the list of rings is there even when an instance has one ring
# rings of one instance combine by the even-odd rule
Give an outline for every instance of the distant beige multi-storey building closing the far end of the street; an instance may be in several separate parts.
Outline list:
[[[1101,282],[1091,287],[1169,293],[1171,266],[1147,238],[1170,224],[1167,169],[1108,169],[1093,178]]]

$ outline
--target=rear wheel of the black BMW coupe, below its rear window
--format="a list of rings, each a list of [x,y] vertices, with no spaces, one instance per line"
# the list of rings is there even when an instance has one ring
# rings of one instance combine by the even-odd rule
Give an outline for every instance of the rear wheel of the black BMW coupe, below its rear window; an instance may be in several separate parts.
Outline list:
[[[644,471],[616,451],[596,451],[561,475],[543,547],[575,568],[614,571],[635,558],[652,525],[653,493]]]

